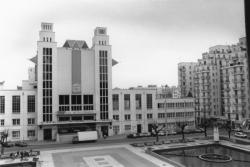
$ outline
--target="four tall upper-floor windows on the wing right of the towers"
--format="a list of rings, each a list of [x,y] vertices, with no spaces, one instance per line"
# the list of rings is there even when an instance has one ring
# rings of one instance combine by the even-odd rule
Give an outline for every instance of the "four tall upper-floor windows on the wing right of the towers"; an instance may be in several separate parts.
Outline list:
[[[113,100],[113,110],[119,110],[119,95],[113,94],[112,95]],[[135,101],[136,101],[136,109],[140,110],[142,108],[142,95],[136,94],[135,95]],[[153,108],[153,95],[147,94],[146,95],[146,105],[147,109]],[[130,110],[130,94],[124,94],[124,110]]]

